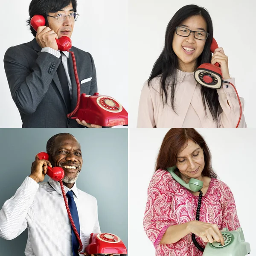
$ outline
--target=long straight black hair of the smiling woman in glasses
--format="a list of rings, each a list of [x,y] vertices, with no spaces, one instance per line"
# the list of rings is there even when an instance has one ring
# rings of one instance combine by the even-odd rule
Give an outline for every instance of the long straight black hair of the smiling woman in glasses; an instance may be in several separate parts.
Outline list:
[[[148,86],[150,86],[150,82],[153,78],[160,76],[160,94],[162,97],[163,105],[168,104],[168,89],[169,84],[172,81],[171,86],[171,95],[170,95],[170,103],[172,110],[175,110],[175,87],[176,87],[176,77],[177,77],[177,68],[178,59],[177,55],[172,49],[172,41],[175,33],[175,27],[180,26],[180,24],[189,17],[200,15],[204,18],[207,23],[207,32],[209,36],[205,42],[204,50],[201,55],[197,59],[197,67],[203,63],[211,62],[211,52],[210,45],[213,37],[213,27],[212,27],[212,19],[204,7],[199,7],[197,5],[186,5],[180,8],[172,19],[169,21],[168,26],[166,28],[165,35],[165,44],[162,53],[160,54],[157,61],[154,63],[153,69],[151,71],[150,77],[148,79]],[[207,116],[206,111],[206,103],[208,105],[209,111],[212,114],[214,120],[218,119],[218,115],[221,111],[220,104],[218,101],[218,93],[217,90],[212,90],[208,87],[201,87],[202,100],[204,104],[204,111]]]

